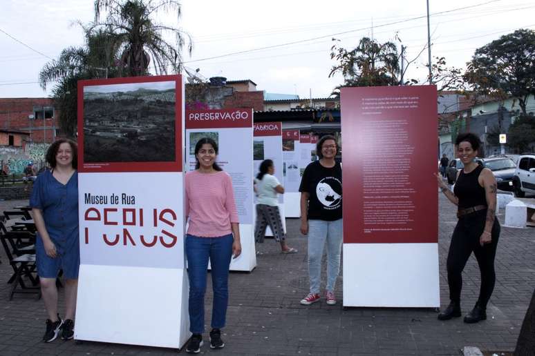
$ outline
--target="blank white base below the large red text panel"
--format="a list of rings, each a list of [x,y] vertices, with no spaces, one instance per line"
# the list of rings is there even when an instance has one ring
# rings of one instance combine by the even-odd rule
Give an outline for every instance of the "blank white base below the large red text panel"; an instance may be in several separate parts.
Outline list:
[[[344,306],[440,306],[438,244],[344,244]]]

